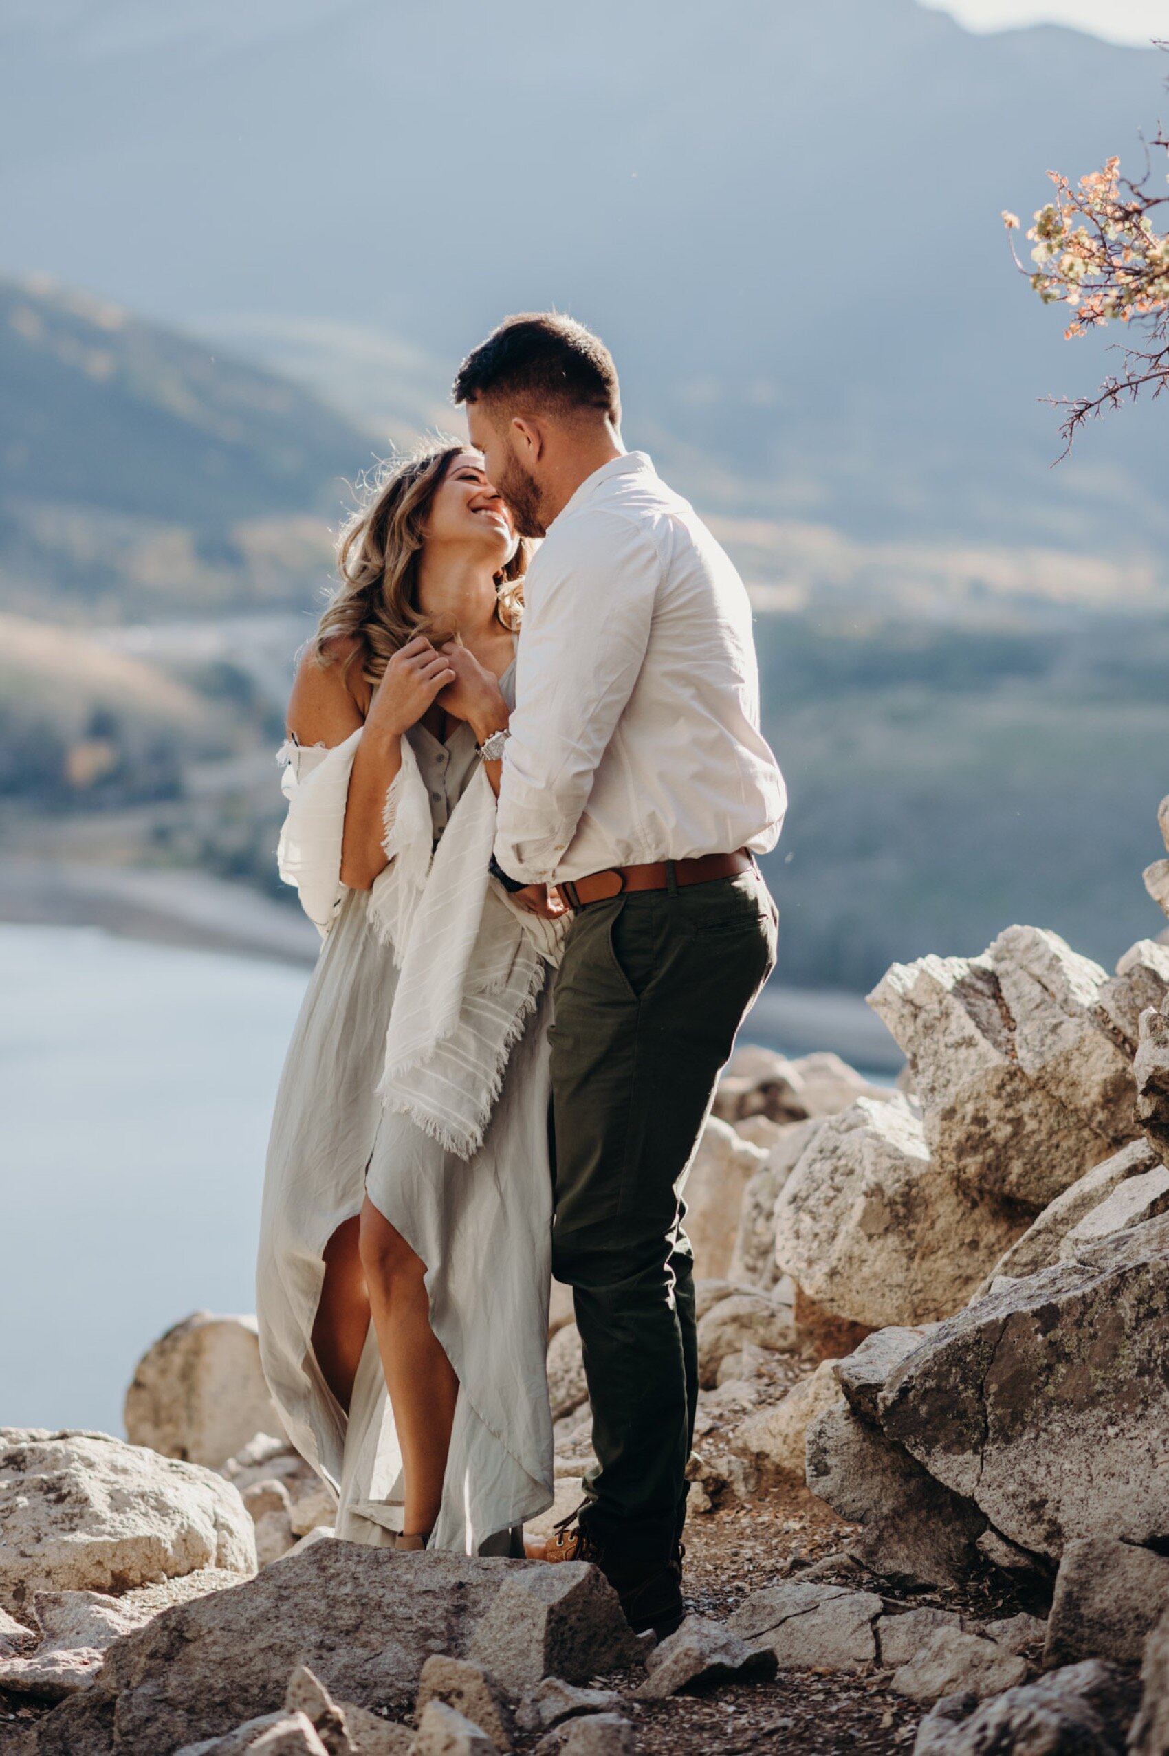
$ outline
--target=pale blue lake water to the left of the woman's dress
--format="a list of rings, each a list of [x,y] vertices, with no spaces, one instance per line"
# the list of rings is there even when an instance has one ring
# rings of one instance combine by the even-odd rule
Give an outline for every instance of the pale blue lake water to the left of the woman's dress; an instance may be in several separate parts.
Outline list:
[[[255,1310],[263,1154],[305,982],[0,925],[0,1426],[121,1433],[163,1329]]]

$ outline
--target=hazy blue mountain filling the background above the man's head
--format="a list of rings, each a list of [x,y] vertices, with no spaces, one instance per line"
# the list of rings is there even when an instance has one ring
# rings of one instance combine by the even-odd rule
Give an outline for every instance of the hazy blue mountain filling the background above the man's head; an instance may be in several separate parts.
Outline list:
[[[1162,72],[914,0],[25,4],[4,255],[188,328],[316,325],[351,365],[372,332],[435,383],[502,313],[560,306],[707,507],[1137,564],[1169,536],[1164,411],[1050,467],[1039,399],[1113,337],[1060,339],[999,211],[1050,165],[1139,167]]]

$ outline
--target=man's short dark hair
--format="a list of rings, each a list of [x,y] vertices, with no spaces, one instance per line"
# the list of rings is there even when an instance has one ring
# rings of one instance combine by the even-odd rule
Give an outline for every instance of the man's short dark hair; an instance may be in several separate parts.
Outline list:
[[[504,318],[458,369],[455,402],[600,409],[621,421],[621,392],[606,344],[572,318],[525,311]]]

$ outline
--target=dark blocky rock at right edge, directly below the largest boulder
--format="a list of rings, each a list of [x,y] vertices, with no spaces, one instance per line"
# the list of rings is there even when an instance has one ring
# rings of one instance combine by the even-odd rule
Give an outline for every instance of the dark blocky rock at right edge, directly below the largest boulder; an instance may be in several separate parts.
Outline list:
[[[1064,1549],[1043,1652],[1046,1670],[1083,1658],[1139,1665],[1144,1640],[1169,1607],[1169,1559],[1109,1536]]]

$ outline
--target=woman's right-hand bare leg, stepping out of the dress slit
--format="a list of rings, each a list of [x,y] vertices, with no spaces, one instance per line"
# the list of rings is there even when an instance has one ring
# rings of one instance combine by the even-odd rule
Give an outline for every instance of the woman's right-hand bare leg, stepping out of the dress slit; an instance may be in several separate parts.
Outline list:
[[[367,1198],[362,1266],[402,1447],[407,1535],[428,1535],[442,1503],[458,1378],[430,1328],[427,1264]]]

